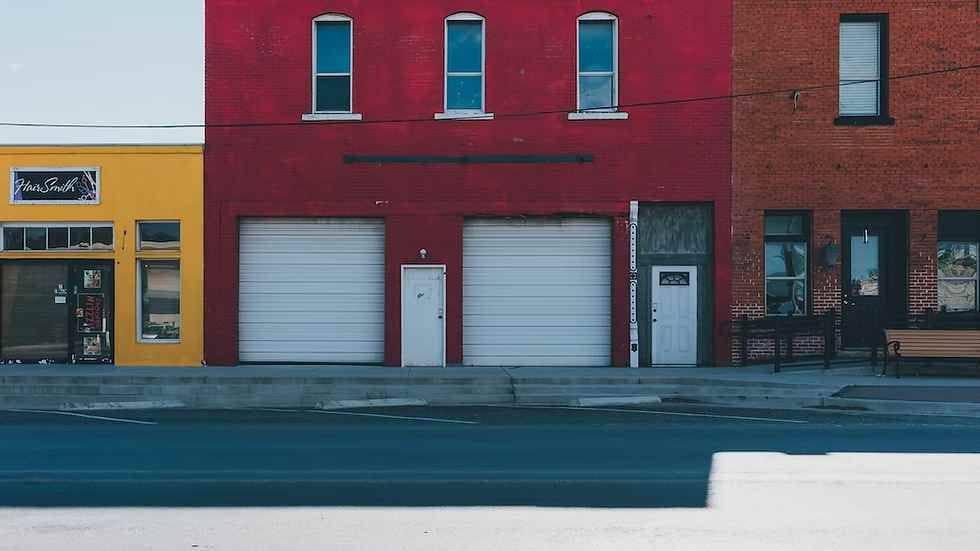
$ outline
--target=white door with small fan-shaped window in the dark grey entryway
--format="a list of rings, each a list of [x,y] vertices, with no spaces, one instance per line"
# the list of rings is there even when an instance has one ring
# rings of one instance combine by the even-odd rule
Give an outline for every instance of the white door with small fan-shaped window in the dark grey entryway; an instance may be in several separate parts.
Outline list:
[[[697,266],[654,266],[651,281],[653,364],[697,364]]]

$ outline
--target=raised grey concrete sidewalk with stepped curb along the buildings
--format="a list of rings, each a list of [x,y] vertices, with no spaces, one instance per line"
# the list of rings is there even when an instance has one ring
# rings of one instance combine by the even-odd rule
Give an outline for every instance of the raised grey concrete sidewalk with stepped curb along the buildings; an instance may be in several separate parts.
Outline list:
[[[877,377],[871,366],[750,368],[0,367],[0,409],[196,409],[664,402],[980,417],[980,379]]]

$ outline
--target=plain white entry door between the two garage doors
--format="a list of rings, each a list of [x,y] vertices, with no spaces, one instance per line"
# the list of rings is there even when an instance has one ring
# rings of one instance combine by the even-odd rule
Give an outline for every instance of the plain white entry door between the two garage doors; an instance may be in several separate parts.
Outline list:
[[[402,266],[402,365],[446,365],[445,266]]]

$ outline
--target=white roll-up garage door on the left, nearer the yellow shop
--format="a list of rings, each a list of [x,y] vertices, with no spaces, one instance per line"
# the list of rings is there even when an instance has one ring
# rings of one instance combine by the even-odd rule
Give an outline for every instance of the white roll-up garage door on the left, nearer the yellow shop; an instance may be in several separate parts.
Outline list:
[[[240,232],[241,361],[384,361],[383,221],[256,219]]]

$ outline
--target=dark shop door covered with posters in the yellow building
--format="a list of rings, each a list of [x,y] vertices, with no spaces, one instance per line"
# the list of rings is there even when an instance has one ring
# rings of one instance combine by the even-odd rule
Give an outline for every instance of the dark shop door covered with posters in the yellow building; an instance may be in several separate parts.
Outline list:
[[[112,263],[75,264],[71,277],[72,361],[112,363]]]

